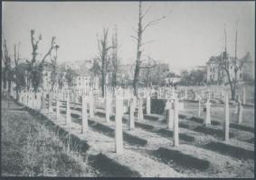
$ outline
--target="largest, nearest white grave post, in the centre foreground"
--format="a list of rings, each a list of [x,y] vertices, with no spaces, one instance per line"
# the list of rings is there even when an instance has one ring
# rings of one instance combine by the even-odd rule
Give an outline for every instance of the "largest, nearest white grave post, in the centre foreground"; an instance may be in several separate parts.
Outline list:
[[[116,153],[117,154],[123,153],[122,116],[123,116],[123,99],[119,96],[116,96],[115,139],[116,139]]]

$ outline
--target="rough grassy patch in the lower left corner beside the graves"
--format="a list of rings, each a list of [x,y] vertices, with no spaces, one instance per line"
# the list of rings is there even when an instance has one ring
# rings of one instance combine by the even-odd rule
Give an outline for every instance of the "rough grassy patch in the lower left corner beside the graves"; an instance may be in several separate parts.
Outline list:
[[[2,111],[2,175],[91,176],[72,148],[28,113]]]

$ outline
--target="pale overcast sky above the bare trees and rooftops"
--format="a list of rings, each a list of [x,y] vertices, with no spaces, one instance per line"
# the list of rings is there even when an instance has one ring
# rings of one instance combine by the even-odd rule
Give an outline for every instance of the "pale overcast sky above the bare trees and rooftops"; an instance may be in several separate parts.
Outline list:
[[[143,40],[144,54],[180,70],[204,65],[224,48],[226,23],[228,51],[234,54],[238,29],[238,57],[247,51],[254,57],[254,2],[144,2],[152,6],[145,23],[160,16],[166,19],[148,28]],[[21,55],[31,58],[30,30],[42,33],[40,52],[49,49],[52,36],[60,45],[60,62],[94,58],[98,53],[97,33],[103,27],[119,33],[119,56],[122,63],[134,63],[136,42],[130,37],[137,29],[138,2],[4,2],[2,31],[10,50],[21,41]]]

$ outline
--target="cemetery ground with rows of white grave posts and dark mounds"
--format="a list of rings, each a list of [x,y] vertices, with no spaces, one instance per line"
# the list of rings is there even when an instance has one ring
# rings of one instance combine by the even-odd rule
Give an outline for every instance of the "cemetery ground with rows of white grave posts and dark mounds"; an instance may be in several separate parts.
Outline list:
[[[17,103],[102,176],[251,177],[254,106],[245,92],[236,103],[224,89],[138,88],[136,97],[105,86],[104,97],[23,91]]]

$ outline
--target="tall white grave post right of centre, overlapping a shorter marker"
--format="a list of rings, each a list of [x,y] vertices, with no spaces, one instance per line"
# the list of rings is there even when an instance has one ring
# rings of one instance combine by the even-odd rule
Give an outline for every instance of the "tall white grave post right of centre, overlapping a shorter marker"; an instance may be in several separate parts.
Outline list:
[[[179,121],[178,121],[178,99],[174,101],[174,146],[179,146]]]

